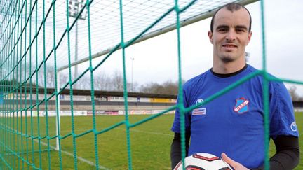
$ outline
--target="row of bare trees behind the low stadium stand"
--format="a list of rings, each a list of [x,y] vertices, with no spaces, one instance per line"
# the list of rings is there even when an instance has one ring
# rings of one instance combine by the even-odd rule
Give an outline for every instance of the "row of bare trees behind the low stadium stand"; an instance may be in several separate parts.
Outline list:
[[[29,68],[29,67],[27,67]],[[43,70],[44,68],[41,67],[38,72],[35,72],[33,75],[30,73],[29,69],[26,71],[20,71],[20,74],[16,74],[16,78],[7,78],[7,80],[1,80],[0,85],[21,85],[22,81],[23,85],[32,85],[32,87],[46,87],[46,88],[54,88],[55,87],[55,75],[59,76],[58,80],[60,82],[60,87],[66,85],[66,88],[69,89],[69,77],[70,81],[73,83],[73,89],[79,90],[90,90],[93,83],[94,90],[102,90],[102,91],[123,91],[124,83],[123,83],[123,74],[121,71],[114,71],[113,73],[109,74],[105,71],[94,72],[93,78],[90,76],[90,72],[81,75],[81,78],[75,79],[74,75],[67,75],[67,73],[60,73],[55,74],[55,69],[52,66],[46,67],[46,71]],[[34,69],[32,69],[34,70]],[[17,78],[18,76],[22,75],[22,78]],[[24,76],[23,76],[24,75]],[[30,78],[30,76],[32,77]],[[185,81],[182,80],[182,83]],[[58,83],[58,82],[57,82]],[[142,93],[149,93],[149,94],[178,94],[178,82],[167,80],[164,83],[154,83],[149,82],[145,83],[144,85],[139,85],[139,83],[130,83],[127,82],[127,90],[128,92],[142,92]],[[58,84],[57,84],[58,85]],[[292,97],[292,101],[303,101],[303,97],[299,96],[297,93],[296,86],[290,86],[288,88],[288,92]]]

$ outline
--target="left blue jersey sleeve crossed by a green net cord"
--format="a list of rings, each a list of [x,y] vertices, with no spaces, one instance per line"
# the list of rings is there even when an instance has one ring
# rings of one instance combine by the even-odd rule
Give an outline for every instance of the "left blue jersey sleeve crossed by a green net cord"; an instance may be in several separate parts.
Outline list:
[[[187,108],[188,107],[188,102],[187,102],[187,93],[185,90],[183,90],[183,106],[184,108]],[[179,97],[177,99],[177,104],[179,102]],[[185,113],[185,131],[186,132],[189,132],[190,130],[190,114],[189,113]],[[173,127],[171,128],[171,130],[173,132],[176,132],[176,133],[180,133],[180,111],[179,111],[179,108],[176,109],[175,111],[175,119],[173,121]]]

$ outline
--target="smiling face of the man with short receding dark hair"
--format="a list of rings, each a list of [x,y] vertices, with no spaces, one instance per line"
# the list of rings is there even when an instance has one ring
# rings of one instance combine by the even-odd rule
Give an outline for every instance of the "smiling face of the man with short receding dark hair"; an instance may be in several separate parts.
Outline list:
[[[245,46],[248,45],[251,32],[248,32],[250,17],[241,8],[229,11],[222,8],[215,15],[213,32],[209,31],[210,42],[213,43],[215,61],[236,62],[245,59]]]

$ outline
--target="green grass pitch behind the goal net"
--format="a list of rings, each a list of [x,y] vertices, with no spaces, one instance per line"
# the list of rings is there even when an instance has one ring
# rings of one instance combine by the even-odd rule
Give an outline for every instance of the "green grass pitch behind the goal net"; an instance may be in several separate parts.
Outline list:
[[[149,115],[131,115],[130,122],[137,122]],[[133,169],[170,169],[170,143],[173,139],[173,132],[170,132],[170,127],[173,122],[174,115],[161,115],[159,118],[150,120],[137,127],[130,129],[130,142],[131,142],[131,155]],[[299,144],[303,148],[303,113],[296,113],[297,126],[300,133]],[[93,117],[74,117],[74,133],[81,134],[93,128]],[[48,127],[46,127],[46,119],[39,118],[39,127],[37,118],[31,120],[30,118],[22,118],[21,120],[11,119],[9,122],[4,122],[5,118],[0,118],[0,123],[5,124],[19,132],[31,135],[31,128],[33,129],[34,136],[37,136],[38,129],[40,136],[55,136],[55,118],[48,119]],[[9,120],[6,118],[6,121]],[[17,121],[18,120],[18,121]],[[97,116],[96,128],[98,131],[121,122],[124,120],[123,116]],[[17,126],[18,122],[18,126]],[[25,127],[25,122],[27,127]],[[33,125],[31,127],[31,125]],[[19,128],[17,128],[19,127]],[[47,132],[48,129],[48,132]],[[61,136],[65,136],[72,132],[72,119],[71,117],[61,118]],[[6,136],[4,144],[0,143],[0,153],[11,153],[8,148],[16,151],[19,150],[19,156],[29,162],[34,162],[36,167],[41,165],[42,169],[59,169],[59,155],[58,151],[50,150],[47,152],[48,140],[41,139],[39,152],[38,140],[32,140],[25,136],[13,134],[4,134],[0,129],[0,136]],[[12,142],[15,141],[15,142]],[[55,139],[49,140],[50,146],[55,146]],[[5,148],[4,145],[8,146]],[[32,145],[34,146],[34,153],[32,153]],[[62,148],[62,169],[74,169],[74,158],[66,153],[73,154],[74,146],[72,136],[68,136],[61,140]],[[116,127],[115,129],[97,135],[97,151],[98,161],[103,167],[109,169],[128,169],[128,154],[126,146],[126,129],[125,125]],[[270,155],[275,152],[274,146],[271,142]],[[48,154],[50,156],[48,156]],[[92,132],[79,136],[76,138],[76,155],[85,160],[95,164],[95,143],[94,135]],[[33,169],[32,166],[27,165],[27,162],[18,159],[16,155],[2,155],[6,162],[13,169]],[[48,157],[50,157],[50,164],[48,164]],[[303,157],[301,153],[301,157]],[[0,167],[6,167],[3,161],[0,160]],[[78,169],[95,169],[94,166],[80,161],[77,161]],[[303,169],[303,162],[300,162],[296,170]]]

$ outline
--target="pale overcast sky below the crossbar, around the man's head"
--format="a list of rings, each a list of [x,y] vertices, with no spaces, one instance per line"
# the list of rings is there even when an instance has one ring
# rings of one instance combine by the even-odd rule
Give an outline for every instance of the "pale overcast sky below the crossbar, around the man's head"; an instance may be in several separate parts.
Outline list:
[[[251,3],[246,7],[253,17],[253,36],[246,48],[246,51],[250,53],[248,63],[257,69],[262,69],[260,2]],[[264,2],[267,71],[278,78],[303,82],[302,9],[302,0]],[[181,29],[182,78],[184,80],[207,71],[213,65],[213,45],[208,40],[209,29],[210,18]],[[121,56],[121,50],[114,52],[107,62],[102,64],[100,71],[107,73],[112,73],[114,70],[122,71]],[[134,59],[133,81],[139,85],[149,82],[163,83],[167,80],[176,81],[178,78],[176,31],[156,36],[126,49],[128,82],[132,80],[131,58]],[[93,63],[98,63],[100,59]],[[86,64],[82,66],[84,65]],[[297,86],[297,92],[303,96],[302,85]]]

